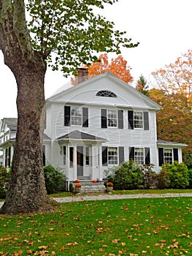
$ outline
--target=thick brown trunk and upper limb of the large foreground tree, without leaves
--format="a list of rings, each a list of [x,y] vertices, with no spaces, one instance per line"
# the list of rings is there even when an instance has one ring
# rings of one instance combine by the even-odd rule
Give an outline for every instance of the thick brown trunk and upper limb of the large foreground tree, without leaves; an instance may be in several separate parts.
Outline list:
[[[0,50],[18,85],[16,144],[0,214],[53,211],[42,166],[46,62],[41,53],[31,48],[23,13],[23,0],[16,0],[13,5],[12,1],[0,0]]]

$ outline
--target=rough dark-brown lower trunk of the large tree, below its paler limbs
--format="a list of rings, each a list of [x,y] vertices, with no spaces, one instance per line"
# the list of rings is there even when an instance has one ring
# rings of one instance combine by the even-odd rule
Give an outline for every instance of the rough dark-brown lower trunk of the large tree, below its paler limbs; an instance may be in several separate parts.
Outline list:
[[[38,53],[34,54],[31,65],[26,66],[23,61],[14,69],[18,84],[18,129],[9,189],[1,214],[53,210],[42,167],[45,71],[45,63]]]

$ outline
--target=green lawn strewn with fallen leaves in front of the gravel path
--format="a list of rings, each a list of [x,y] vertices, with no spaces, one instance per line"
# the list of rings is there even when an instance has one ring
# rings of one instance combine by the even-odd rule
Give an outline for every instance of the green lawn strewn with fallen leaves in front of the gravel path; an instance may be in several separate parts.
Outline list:
[[[191,197],[84,201],[52,214],[0,215],[0,255],[192,255],[191,219]]]

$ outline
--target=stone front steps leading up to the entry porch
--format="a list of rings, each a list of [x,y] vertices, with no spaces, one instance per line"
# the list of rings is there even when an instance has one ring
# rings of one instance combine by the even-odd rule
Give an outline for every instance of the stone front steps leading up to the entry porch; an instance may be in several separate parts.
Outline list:
[[[75,185],[77,183],[71,182],[69,185],[69,190],[73,193],[80,193],[80,194],[86,194],[86,193],[104,193],[106,192],[106,187],[104,186],[103,181],[99,181],[96,183],[93,183],[92,181],[85,181],[80,180],[81,187],[80,189],[76,188]]]

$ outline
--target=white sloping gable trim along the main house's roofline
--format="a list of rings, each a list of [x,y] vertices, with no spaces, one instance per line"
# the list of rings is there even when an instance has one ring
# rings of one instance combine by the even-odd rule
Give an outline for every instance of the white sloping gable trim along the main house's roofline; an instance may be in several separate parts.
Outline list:
[[[64,97],[66,94],[74,93],[76,90],[78,91],[78,89],[83,89],[83,87],[88,86],[89,83],[96,82],[97,80],[101,80],[102,78],[110,78],[110,80],[115,82],[118,86],[121,86],[123,89],[126,89],[128,94],[130,94],[130,93],[134,94],[139,99],[142,99],[142,101],[145,102],[147,105],[150,105],[151,108],[153,108],[155,110],[161,109],[161,106],[158,105],[156,102],[154,102],[152,99],[150,99],[149,97],[146,97],[144,94],[142,94],[141,92],[134,89],[133,86],[128,85],[128,83],[124,82],[123,80],[120,80],[118,77],[116,77],[115,75],[112,75],[112,73],[110,73],[110,72],[104,72],[103,74],[97,75],[93,78],[85,80],[84,82],[79,83],[76,86],[72,86],[69,89],[60,91],[58,94],[55,94],[52,97],[48,98],[46,100],[46,102],[47,103],[48,102],[59,102],[59,99],[61,99],[61,97]],[[87,100],[88,99],[85,99],[85,102]],[[72,102],[72,100],[70,101],[68,99],[68,102]],[[125,107],[126,106],[127,105],[125,105]]]

